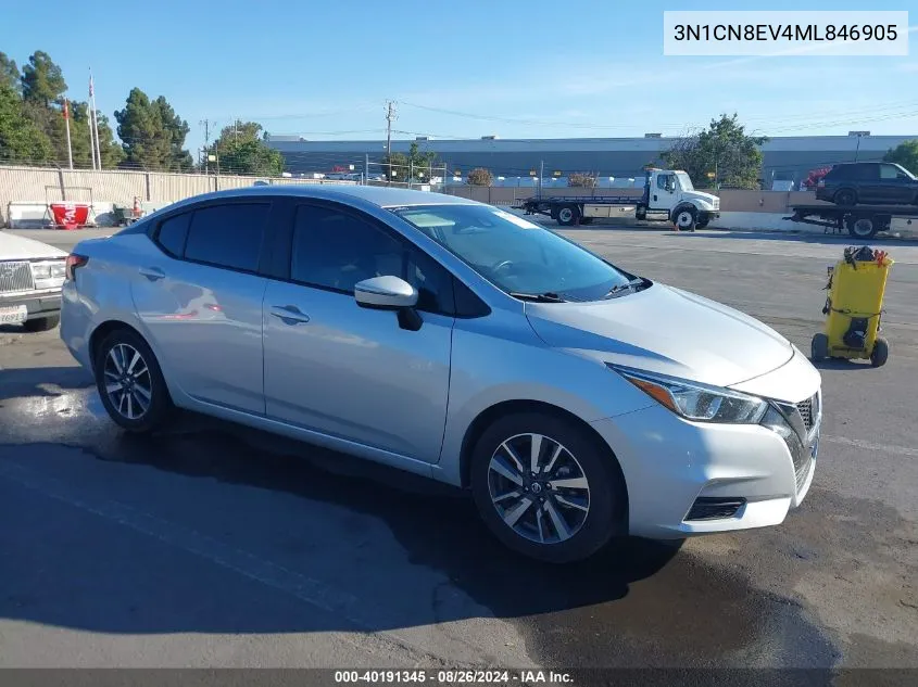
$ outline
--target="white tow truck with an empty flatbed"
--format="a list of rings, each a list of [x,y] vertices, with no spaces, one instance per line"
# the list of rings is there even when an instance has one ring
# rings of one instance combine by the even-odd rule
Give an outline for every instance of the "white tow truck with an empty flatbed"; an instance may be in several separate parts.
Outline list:
[[[704,229],[720,216],[720,199],[695,191],[689,175],[679,169],[647,169],[644,191],[632,195],[537,195],[513,206],[527,215],[548,215],[563,227],[589,225],[596,218],[629,217],[668,220],[681,230]]]

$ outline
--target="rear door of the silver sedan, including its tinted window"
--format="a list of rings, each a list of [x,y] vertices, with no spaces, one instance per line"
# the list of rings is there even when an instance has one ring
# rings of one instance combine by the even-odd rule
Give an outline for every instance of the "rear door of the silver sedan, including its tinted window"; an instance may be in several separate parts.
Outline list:
[[[272,199],[197,205],[161,220],[133,281],[169,381],[197,400],[264,414],[262,301]]]

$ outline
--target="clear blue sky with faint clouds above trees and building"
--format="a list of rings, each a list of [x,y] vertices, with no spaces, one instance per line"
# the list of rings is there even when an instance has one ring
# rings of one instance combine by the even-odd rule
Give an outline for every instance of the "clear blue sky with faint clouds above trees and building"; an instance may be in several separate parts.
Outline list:
[[[306,139],[680,135],[737,113],[758,135],[918,136],[918,33],[898,58],[663,55],[664,10],[865,10],[863,0],[43,0],[4,3],[0,51],[43,50],[110,119],[139,87],[191,127],[234,118]],[[877,7],[873,7],[877,5]],[[911,10],[915,0],[871,3]],[[449,112],[444,112],[449,111]],[[215,123],[215,124],[214,124]],[[213,132],[211,138],[213,138]]]

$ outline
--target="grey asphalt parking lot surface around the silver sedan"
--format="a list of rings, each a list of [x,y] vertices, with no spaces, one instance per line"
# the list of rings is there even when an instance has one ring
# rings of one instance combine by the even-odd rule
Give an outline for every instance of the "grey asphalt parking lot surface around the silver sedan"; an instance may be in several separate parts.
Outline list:
[[[565,233],[803,351],[846,245]],[[56,331],[0,328],[0,666],[918,669],[918,245],[877,244],[896,260],[890,360],[821,366],[803,506],[567,568],[515,557],[461,495],[385,468],[201,418],[125,436]]]

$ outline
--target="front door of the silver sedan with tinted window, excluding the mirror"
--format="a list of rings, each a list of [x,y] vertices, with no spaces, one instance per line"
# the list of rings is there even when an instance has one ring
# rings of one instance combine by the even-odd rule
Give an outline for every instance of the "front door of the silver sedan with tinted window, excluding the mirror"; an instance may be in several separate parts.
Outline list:
[[[289,280],[264,301],[268,417],[437,462],[450,386],[452,276],[377,220],[336,205],[292,216]],[[360,307],[354,284],[392,275],[422,294],[424,320]]]

